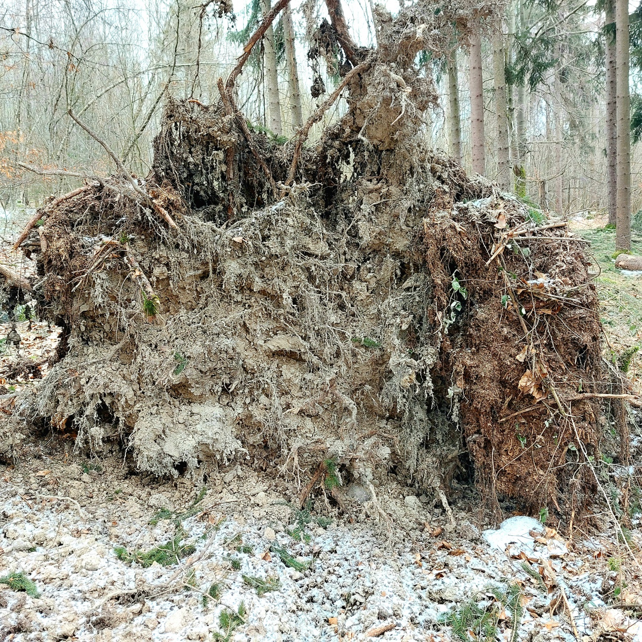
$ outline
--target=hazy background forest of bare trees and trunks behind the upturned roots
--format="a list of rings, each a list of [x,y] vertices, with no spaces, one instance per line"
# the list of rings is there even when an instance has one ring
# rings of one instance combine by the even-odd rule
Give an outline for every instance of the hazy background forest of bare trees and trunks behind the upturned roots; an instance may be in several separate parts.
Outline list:
[[[642,132],[642,9],[630,9],[631,132],[636,143]],[[56,175],[57,169],[98,174],[113,169],[100,145],[79,134],[69,109],[145,175],[166,95],[205,104],[218,100],[216,80],[229,73],[266,10],[259,0],[237,2],[233,13],[225,15],[220,4],[189,0],[4,3],[4,207],[33,205],[76,184],[73,177]],[[325,7],[294,4],[252,53],[238,91],[239,107],[254,128],[290,137],[317,99],[323,100],[339,82],[336,56],[325,56],[325,65],[308,64],[309,31],[319,11]],[[345,3],[358,44],[376,41],[373,11],[365,0]],[[616,120],[614,6],[603,0],[513,0],[498,6],[498,15],[502,12],[501,20],[480,22],[481,37],[473,37],[469,48],[453,48],[449,56],[438,58],[422,53],[424,73],[439,96],[439,107],[425,124],[426,137],[435,148],[461,159],[467,170],[485,173],[543,209],[566,216],[605,213],[611,180],[614,223],[614,156],[609,162]],[[318,131],[336,119],[336,110],[345,111],[345,103],[325,114]],[[639,166],[634,146],[632,213],[641,205]]]

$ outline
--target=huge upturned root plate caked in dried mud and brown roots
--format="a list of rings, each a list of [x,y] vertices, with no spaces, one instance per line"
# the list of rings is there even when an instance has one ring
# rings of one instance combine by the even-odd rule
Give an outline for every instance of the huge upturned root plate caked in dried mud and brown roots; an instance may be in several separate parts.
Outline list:
[[[169,101],[144,186],[177,229],[101,185],[44,212],[35,291],[67,351],[19,415],[124,440],[155,474],[331,459],[376,503],[393,467],[447,493],[469,460],[487,498],[590,503],[571,448],[596,453],[603,392],[584,246],[426,148],[413,60],[437,36],[415,22],[379,16],[347,114],[300,157],[221,103]]]

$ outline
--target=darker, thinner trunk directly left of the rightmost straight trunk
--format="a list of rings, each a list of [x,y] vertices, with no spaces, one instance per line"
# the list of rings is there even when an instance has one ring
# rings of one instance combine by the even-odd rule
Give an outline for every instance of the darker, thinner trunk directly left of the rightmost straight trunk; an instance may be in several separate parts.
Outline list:
[[[614,0],[606,0],[606,164],[607,202],[609,204],[609,225],[616,223],[618,192],[618,128],[617,128],[617,78],[616,78],[616,37]]]

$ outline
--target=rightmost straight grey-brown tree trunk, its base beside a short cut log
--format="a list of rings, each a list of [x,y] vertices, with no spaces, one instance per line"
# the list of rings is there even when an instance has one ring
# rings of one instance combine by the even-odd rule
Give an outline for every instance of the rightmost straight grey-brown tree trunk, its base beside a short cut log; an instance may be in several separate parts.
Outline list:
[[[615,249],[631,247],[631,132],[629,96],[629,3],[616,0],[618,192]]]

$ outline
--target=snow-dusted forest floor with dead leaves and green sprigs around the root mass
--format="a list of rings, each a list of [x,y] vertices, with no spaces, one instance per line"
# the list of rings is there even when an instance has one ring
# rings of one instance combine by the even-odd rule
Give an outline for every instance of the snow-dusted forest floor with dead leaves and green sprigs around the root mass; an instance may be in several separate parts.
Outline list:
[[[616,360],[629,351],[639,390],[642,281],[614,267],[613,232],[575,229],[596,258],[607,349]],[[0,336],[9,330],[0,324]],[[46,375],[15,364],[44,361],[56,342],[40,322],[17,330],[20,354],[0,346],[4,417],[13,392]],[[17,452],[0,465],[3,641],[642,641],[636,515],[632,560],[608,513],[596,516],[600,532],[562,535],[504,503],[493,530],[467,485],[453,491],[453,526],[390,475],[377,521],[356,485],[363,508],[339,516],[322,500],[298,510],[306,480],[277,471],[234,464],[197,482],[158,479],[115,448],[89,460],[71,435],[51,433],[22,435]]]

